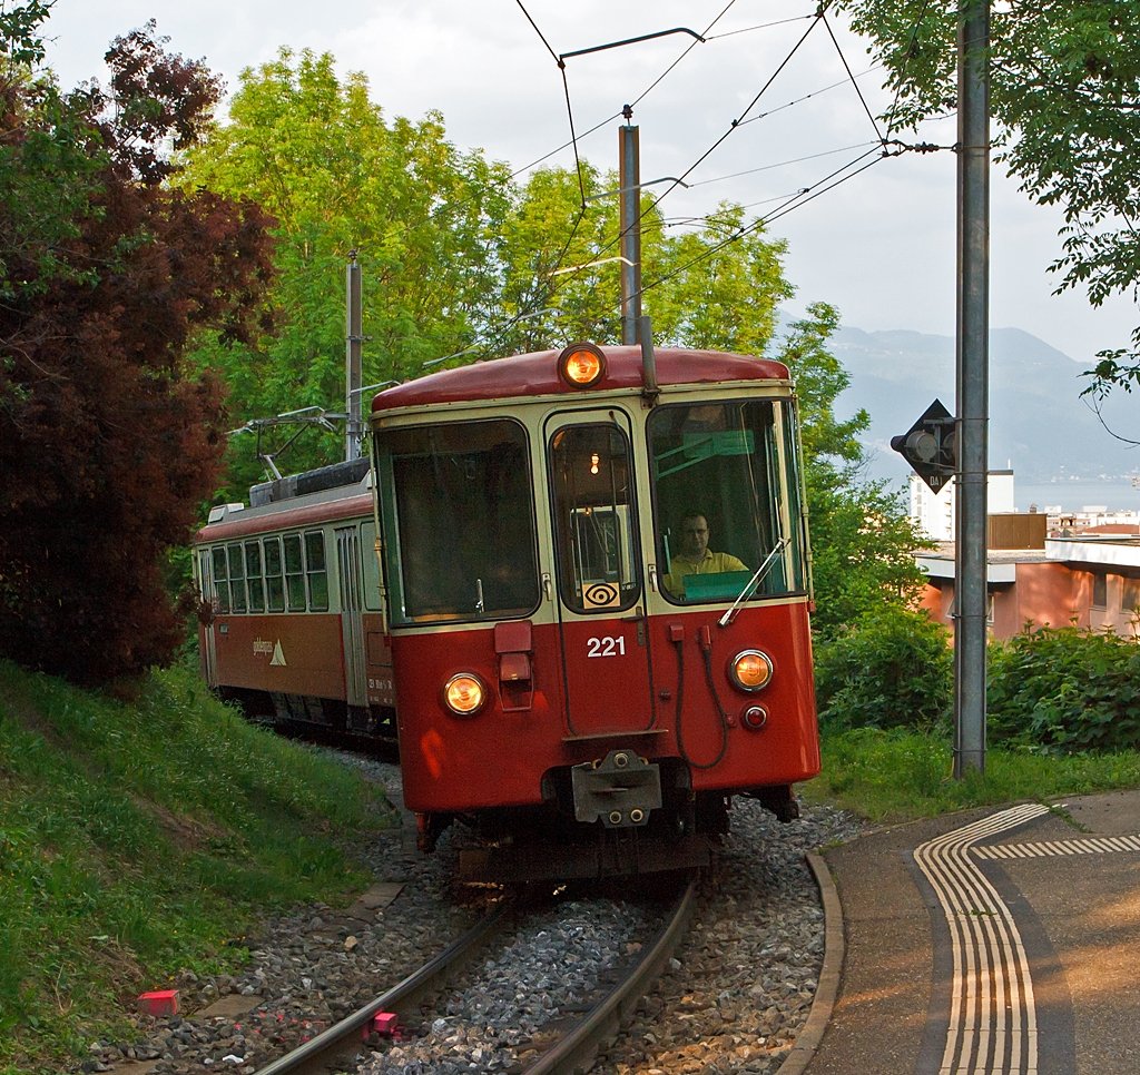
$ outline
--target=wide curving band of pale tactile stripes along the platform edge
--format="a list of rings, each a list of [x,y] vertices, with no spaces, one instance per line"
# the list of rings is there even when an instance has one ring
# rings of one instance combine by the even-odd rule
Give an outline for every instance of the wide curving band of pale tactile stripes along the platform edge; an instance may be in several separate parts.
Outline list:
[[[980,850],[971,848],[976,841],[1048,813],[1049,807],[1036,804],[1015,806],[914,850],[946,915],[953,953],[939,1075],[1037,1075],[1036,1005],[1021,935],[969,853]]]

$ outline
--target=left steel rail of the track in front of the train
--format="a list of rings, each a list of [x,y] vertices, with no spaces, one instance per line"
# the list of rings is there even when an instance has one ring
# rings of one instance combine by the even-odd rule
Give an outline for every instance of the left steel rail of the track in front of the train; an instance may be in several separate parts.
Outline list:
[[[399,985],[374,997],[358,1009],[284,1057],[258,1070],[258,1075],[316,1075],[324,1073],[337,1059],[355,1053],[360,1048],[363,1032],[373,1016],[381,1011],[405,1012],[425,994],[438,988],[448,975],[470,960],[482,944],[503,926],[513,911],[513,903],[504,901],[434,959],[408,975]]]

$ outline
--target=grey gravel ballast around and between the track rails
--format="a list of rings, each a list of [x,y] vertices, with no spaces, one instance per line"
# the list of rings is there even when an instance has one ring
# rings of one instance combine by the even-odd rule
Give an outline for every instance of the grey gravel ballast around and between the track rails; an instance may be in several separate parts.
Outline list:
[[[397,766],[344,756],[399,798]],[[732,833],[706,872],[700,909],[676,958],[634,1024],[600,1054],[595,1072],[728,1075],[775,1072],[803,1027],[823,958],[823,912],[804,853],[860,831],[849,815],[811,807],[780,824],[735,798]],[[270,1059],[390,988],[474,925],[494,890],[453,886],[453,826],[421,856],[399,831],[359,849],[377,880],[402,885],[375,910],[324,905],[269,920],[235,977],[177,984],[181,1018],[140,1019],[146,1041],[98,1043],[87,1070],[158,1075],[228,1070],[252,1075]],[[633,902],[579,898],[529,917],[475,964],[440,1010],[399,1040],[370,1040],[359,1075],[520,1070],[556,1041],[569,1019],[636,958],[659,926]],[[238,1001],[237,997],[243,997]],[[209,1008],[252,1005],[210,1015]],[[124,1065],[120,1067],[120,1065]]]

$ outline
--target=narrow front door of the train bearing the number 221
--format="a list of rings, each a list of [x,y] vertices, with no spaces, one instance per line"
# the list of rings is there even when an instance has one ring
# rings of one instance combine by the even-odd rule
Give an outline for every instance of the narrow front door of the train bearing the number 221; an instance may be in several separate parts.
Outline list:
[[[559,630],[572,738],[653,724],[633,435],[621,410],[547,418]]]

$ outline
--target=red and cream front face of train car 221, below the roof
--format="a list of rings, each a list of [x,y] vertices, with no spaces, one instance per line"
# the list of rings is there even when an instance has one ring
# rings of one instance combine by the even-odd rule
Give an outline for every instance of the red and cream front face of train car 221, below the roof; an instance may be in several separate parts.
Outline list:
[[[377,417],[425,842],[474,816],[515,877],[529,836],[563,876],[649,871],[707,855],[733,793],[790,815],[820,763],[787,381]]]

